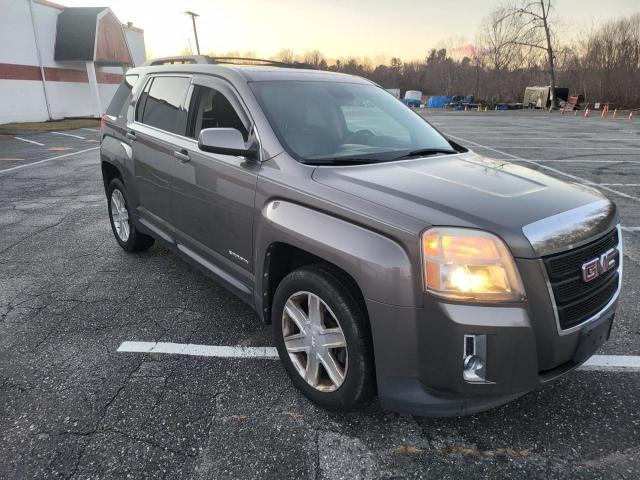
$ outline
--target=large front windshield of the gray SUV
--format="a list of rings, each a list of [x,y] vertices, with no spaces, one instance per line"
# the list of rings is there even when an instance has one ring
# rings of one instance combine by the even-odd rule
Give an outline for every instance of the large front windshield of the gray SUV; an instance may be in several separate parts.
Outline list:
[[[456,153],[425,120],[375,85],[267,81],[251,88],[283,146],[305,163]]]

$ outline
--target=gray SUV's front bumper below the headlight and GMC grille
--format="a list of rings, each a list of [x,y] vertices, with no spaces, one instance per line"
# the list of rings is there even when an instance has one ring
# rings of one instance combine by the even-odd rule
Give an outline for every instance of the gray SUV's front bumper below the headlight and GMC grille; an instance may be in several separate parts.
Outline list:
[[[480,306],[425,296],[424,308],[410,308],[367,300],[382,406],[456,416],[507,403],[586,361],[608,338],[617,307],[616,298],[589,324],[558,335],[548,297],[529,302]],[[465,334],[487,336],[486,383],[463,378]]]

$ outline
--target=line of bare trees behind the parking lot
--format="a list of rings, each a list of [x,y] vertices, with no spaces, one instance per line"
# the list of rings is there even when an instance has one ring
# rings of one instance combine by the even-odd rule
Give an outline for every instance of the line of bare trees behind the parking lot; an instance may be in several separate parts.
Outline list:
[[[291,49],[273,59],[360,75],[402,92],[474,95],[489,104],[521,102],[526,86],[556,85],[584,95],[591,104],[640,107],[640,13],[570,41],[559,39],[558,24],[553,0],[511,0],[487,15],[473,43],[430,49],[419,60],[330,60],[320,50],[300,54]]]

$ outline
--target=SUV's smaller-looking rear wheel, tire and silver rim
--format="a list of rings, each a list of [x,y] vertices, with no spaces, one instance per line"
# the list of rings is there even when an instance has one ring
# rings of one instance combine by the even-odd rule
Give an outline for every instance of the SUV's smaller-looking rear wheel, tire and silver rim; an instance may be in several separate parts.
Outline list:
[[[153,237],[139,232],[131,218],[127,192],[122,181],[114,178],[107,188],[107,206],[111,230],[118,244],[127,252],[147,250],[154,243]]]

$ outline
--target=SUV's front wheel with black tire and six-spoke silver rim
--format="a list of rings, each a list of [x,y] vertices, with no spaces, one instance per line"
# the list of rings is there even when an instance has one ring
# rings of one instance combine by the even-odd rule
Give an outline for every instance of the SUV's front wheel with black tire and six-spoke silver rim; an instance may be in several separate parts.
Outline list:
[[[272,325],[285,370],[310,400],[346,411],[373,396],[369,323],[340,274],[321,266],[291,272],[276,289]]]

